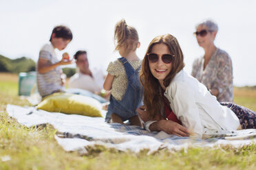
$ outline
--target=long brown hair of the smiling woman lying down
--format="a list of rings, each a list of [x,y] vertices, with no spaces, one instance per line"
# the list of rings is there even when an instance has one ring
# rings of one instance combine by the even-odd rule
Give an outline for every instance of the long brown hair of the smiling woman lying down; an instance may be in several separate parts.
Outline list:
[[[142,61],[142,69],[140,71],[140,82],[144,88],[144,104],[147,107],[147,112],[151,118],[160,114],[163,107],[163,101],[160,83],[156,77],[153,77],[149,69],[147,54],[151,52],[154,45],[161,43],[167,45],[170,53],[174,56],[171,71],[164,79],[164,86],[169,86],[173,77],[175,77],[175,75],[184,68],[184,56],[180,49],[178,40],[174,36],[171,36],[171,34],[165,34],[153,38],[147,48],[147,52]]]

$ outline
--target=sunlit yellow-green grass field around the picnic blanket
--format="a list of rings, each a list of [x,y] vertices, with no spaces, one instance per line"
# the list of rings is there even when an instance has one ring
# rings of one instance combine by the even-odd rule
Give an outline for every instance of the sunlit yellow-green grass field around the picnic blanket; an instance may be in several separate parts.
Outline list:
[[[17,75],[0,73],[0,169],[256,169],[256,144],[233,149],[162,149],[147,155],[88,148],[87,156],[66,152],[51,126],[27,128],[6,114],[6,105],[29,106],[17,96]],[[235,103],[256,110],[256,89],[235,88]]]

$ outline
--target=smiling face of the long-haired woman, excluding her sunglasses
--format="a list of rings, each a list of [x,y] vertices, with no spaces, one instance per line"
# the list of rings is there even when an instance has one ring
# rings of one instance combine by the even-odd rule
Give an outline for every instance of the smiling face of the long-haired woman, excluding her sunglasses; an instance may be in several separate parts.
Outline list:
[[[172,62],[169,64],[164,63],[162,61],[162,55],[171,54],[171,53],[167,45],[165,45],[164,43],[153,45],[151,49],[151,53],[156,53],[158,55],[158,61],[151,62],[149,60],[149,69],[153,77],[156,77],[156,79],[159,82],[163,82],[164,78],[167,77],[167,75],[171,71]]]

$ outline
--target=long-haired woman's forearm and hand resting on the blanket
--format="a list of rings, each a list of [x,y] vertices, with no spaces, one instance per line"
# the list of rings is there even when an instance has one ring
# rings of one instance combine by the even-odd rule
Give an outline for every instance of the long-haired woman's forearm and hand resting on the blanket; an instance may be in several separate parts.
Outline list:
[[[167,134],[175,134],[177,136],[189,136],[189,130],[186,127],[170,120],[160,120],[149,126],[151,131],[164,131]]]

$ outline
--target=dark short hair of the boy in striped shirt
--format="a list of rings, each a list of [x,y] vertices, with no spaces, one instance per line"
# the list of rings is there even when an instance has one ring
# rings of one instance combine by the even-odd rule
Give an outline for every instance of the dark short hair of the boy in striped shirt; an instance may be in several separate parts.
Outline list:
[[[72,40],[73,35],[69,27],[66,27],[64,25],[57,25],[52,30],[52,34],[55,34],[56,38],[63,38],[65,40]],[[50,38],[50,41],[52,40],[52,35]]]

